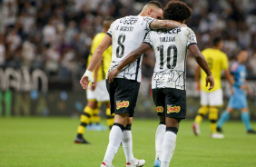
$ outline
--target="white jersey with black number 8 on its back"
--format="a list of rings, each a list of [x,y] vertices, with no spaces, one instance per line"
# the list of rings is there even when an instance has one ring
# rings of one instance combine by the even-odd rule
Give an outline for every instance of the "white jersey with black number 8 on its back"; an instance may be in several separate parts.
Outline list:
[[[112,36],[112,62],[109,71],[116,68],[123,58],[137,49],[145,35],[150,31],[152,17],[126,16],[113,22],[107,34]],[[141,82],[142,57],[123,68],[116,78],[124,78]]]

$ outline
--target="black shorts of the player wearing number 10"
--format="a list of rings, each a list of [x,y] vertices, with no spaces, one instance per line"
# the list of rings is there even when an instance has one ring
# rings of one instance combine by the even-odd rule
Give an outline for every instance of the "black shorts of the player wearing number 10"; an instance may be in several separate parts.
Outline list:
[[[153,102],[159,116],[185,119],[186,91],[174,88],[153,89]]]

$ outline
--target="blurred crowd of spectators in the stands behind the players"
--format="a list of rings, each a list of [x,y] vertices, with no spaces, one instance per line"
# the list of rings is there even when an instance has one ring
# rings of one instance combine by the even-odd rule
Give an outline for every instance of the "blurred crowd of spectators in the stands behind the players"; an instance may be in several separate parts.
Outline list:
[[[164,5],[168,0],[159,1]],[[0,67],[43,69],[50,81],[79,81],[94,35],[103,18],[138,15],[148,1],[0,0]],[[249,77],[256,76],[256,2],[254,0],[183,0],[193,9],[186,23],[200,49],[222,35],[222,48],[234,61],[239,47],[249,51]],[[188,56],[188,76],[195,62]],[[143,76],[151,77],[153,52],[145,54]]]

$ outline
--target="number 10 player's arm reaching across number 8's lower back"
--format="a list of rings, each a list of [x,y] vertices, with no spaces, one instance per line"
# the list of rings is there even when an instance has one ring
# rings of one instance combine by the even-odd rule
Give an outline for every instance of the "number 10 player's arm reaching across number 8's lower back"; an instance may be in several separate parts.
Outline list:
[[[120,71],[128,64],[133,63],[135,60],[140,58],[147,50],[151,49],[149,44],[141,44],[136,50],[128,54],[121,64],[119,64],[115,69],[113,69],[108,75],[107,80],[109,83],[113,82],[113,78],[120,73]]]

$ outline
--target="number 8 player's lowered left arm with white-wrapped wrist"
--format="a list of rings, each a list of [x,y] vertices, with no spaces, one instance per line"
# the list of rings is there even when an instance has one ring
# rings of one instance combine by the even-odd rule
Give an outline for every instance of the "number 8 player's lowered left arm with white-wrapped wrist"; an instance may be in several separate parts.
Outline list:
[[[103,52],[112,44],[112,37],[109,34],[105,34],[103,41],[96,48],[90,64],[88,65],[87,70],[82,76],[80,83],[82,87],[87,90],[89,82],[94,83],[93,71],[95,65],[101,60]]]

